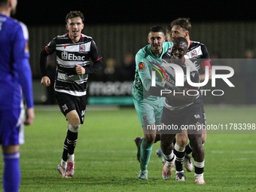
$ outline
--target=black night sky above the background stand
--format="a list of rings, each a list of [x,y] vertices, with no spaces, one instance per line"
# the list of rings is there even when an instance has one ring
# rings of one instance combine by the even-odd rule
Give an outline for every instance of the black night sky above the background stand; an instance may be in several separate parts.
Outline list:
[[[19,0],[14,16],[29,26],[66,24],[69,11],[84,13],[85,24],[163,23],[178,17],[191,22],[256,21],[253,1]]]

